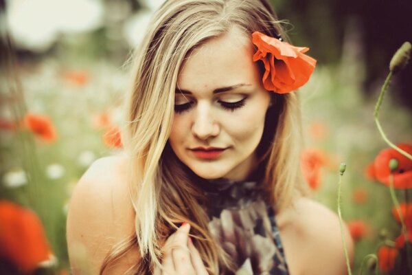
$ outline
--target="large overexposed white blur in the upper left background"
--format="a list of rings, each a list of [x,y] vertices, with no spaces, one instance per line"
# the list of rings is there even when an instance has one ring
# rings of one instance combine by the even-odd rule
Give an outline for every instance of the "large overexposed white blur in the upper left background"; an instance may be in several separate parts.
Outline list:
[[[84,32],[102,25],[103,5],[91,0],[8,1],[7,19],[14,41],[43,52],[60,32]]]

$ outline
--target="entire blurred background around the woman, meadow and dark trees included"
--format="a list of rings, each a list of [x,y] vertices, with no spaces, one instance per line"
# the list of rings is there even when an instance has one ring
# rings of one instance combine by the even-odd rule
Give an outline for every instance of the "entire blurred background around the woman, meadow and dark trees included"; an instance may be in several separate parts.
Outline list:
[[[122,148],[128,58],[162,2],[0,0],[1,274],[69,274],[67,203],[87,167]],[[342,212],[356,240],[354,274],[368,254],[380,259],[381,274],[412,274],[389,188],[376,176],[387,144],[373,116],[391,56],[412,41],[412,1],[272,3],[293,44],[310,47],[318,61],[299,90],[301,165],[312,197],[336,211],[345,162]],[[395,144],[412,144],[411,76],[411,64],[393,76],[379,114]],[[398,172],[411,187],[411,161],[403,164]],[[404,209],[409,191],[396,190]],[[367,258],[364,274],[375,274],[374,263]]]

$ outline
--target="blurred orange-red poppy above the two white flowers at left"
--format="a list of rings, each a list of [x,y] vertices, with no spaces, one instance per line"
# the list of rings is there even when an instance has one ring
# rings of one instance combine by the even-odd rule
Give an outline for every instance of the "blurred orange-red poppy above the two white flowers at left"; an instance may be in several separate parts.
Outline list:
[[[44,142],[54,142],[57,138],[52,120],[47,115],[27,113],[25,115],[25,125],[34,135]]]

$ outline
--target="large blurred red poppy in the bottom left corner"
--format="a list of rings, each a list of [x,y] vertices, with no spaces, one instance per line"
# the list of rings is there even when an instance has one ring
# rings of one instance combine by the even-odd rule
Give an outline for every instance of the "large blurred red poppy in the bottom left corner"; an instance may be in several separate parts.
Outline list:
[[[25,272],[51,254],[40,219],[26,208],[0,201],[0,255]]]

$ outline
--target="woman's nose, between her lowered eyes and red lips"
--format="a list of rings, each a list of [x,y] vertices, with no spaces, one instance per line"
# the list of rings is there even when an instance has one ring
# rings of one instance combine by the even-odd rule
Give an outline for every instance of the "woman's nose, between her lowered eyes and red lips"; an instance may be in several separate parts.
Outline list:
[[[198,102],[192,122],[192,133],[201,140],[216,137],[220,133],[220,126],[215,119],[210,104]]]

